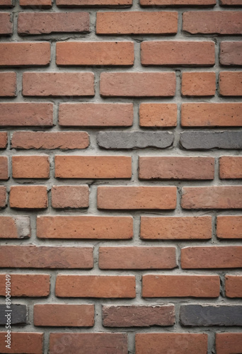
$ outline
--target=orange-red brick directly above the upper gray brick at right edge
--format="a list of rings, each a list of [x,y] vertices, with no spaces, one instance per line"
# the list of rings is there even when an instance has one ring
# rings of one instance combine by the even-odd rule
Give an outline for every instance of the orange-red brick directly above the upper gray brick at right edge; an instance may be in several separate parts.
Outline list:
[[[183,103],[182,127],[241,127],[241,103]]]

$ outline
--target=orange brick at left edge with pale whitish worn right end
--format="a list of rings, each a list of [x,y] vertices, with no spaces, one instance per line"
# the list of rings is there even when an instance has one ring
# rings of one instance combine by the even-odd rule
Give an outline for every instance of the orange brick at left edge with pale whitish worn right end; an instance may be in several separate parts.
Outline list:
[[[28,239],[30,234],[30,217],[0,217],[0,239]]]

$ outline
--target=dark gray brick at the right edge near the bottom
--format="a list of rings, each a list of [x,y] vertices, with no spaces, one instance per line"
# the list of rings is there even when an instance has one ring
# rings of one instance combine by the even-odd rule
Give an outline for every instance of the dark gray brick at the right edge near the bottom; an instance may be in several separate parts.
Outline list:
[[[181,305],[184,326],[242,326],[242,306]]]

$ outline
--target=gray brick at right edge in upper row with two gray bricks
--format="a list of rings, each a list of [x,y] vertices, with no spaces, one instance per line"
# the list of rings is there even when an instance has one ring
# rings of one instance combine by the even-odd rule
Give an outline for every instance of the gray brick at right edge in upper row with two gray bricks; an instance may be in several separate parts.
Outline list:
[[[242,149],[242,132],[182,132],[180,144],[188,150]]]

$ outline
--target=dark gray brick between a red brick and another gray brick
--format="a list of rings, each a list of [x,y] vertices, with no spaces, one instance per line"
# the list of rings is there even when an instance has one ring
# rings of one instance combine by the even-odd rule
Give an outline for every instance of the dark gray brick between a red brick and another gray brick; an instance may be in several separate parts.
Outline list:
[[[171,132],[99,132],[98,145],[105,149],[133,149],[144,147],[171,147]]]

